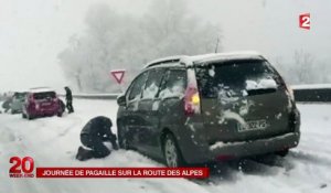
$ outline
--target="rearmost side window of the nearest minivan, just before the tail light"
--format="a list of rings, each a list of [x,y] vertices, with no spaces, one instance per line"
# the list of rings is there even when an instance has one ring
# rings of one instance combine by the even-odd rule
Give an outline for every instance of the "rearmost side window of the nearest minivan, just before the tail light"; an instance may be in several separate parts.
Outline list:
[[[160,98],[183,97],[188,83],[185,69],[171,69],[168,72],[168,77],[162,84]]]

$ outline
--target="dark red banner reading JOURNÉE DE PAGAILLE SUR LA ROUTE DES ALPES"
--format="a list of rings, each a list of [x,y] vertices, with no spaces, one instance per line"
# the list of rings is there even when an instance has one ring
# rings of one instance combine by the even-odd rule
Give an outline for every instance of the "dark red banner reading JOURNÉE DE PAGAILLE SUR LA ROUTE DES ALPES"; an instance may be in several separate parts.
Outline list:
[[[209,168],[36,168],[36,178],[206,179]]]

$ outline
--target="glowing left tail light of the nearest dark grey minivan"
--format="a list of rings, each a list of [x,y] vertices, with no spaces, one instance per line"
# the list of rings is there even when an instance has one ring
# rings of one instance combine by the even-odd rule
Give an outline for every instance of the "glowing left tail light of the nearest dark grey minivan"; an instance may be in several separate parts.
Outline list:
[[[184,110],[186,116],[200,114],[200,95],[194,85],[189,85],[185,90]]]

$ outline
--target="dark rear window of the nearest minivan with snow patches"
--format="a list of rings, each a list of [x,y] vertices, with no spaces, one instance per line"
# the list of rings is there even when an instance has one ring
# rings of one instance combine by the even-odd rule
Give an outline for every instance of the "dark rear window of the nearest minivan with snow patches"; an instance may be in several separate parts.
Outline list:
[[[276,89],[279,75],[260,60],[229,61],[195,67],[199,90],[204,98],[245,96],[252,89]]]

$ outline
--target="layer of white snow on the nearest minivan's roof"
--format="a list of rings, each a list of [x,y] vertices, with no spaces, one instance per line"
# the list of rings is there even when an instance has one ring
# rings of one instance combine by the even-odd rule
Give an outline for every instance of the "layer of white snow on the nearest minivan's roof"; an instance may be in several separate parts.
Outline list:
[[[227,60],[245,60],[245,58],[256,58],[260,60],[264,58],[260,53],[256,51],[239,51],[239,52],[224,52],[224,53],[211,53],[211,54],[203,54],[203,55],[177,55],[177,56],[168,56],[163,58],[159,58],[148,63],[145,68],[152,66],[153,64],[158,63],[166,63],[171,61],[180,61],[185,65],[193,65],[194,63],[206,63],[206,62],[214,62],[214,61],[227,61]]]

